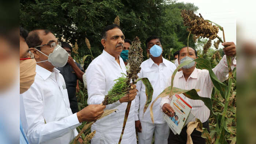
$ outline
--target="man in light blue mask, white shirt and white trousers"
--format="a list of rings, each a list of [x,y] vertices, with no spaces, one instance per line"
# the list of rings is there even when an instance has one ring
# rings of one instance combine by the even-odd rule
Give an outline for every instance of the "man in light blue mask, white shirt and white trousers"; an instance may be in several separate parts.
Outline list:
[[[145,44],[149,59],[142,62],[138,77],[147,77],[149,79],[154,90],[152,99],[156,99],[167,87],[167,78],[172,75],[176,66],[162,57],[162,45],[157,36],[149,37]],[[156,55],[152,55],[150,52],[152,51],[150,49],[153,49],[154,45],[160,48]],[[163,113],[160,109],[161,99],[158,99],[153,106],[154,123],[152,123],[149,109],[143,115],[144,105],[146,103],[145,85],[141,81],[137,82],[136,85],[139,92],[135,98],[135,126],[138,132],[139,144],[151,144],[153,133],[155,133],[155,144],[167,144],[169,128],[163,119]],[[152,102],[149,105],[151,104]]]

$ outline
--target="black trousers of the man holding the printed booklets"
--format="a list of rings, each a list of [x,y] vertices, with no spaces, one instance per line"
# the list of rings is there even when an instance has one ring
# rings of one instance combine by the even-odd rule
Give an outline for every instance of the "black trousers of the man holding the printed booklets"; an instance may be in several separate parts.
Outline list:
[[[174,134],[172,130],[170,130],[170,134],[168,137],[168,144],[186,144],[187,143],[187,126],[184,126],[184,128],[181,130],[180,134]],[[208,132],[210,132],[209,128],[209,121],[203,123],[203,128],[207,128]],[[206,140],[201,137],[201,132],[194,129],[194,131],[191,133],[191,138],[193,141],[193,144],[205,144]]]

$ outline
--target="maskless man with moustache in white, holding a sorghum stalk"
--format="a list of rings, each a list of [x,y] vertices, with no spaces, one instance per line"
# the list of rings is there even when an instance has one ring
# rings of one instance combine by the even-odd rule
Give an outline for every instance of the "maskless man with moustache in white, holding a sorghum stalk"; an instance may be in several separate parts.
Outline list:
[[[123,49],[125,36],[116,24],[111,24],[103,30],[101,44],[104,50],[100,56],[95,58],[86,70],[88,88],[88,104],[100,104],[105,95],[115,84],[115,79],[126,74],[125,64],[120,57]],[[135,84],[132,85],[136,87]],[[137,90],[129,91],[129,95],[122,97],[119,101],[106,106],[106,109],[118,109],[99,121],[96,121],[91,130],[96,134],[91,139],[91,144],[117,144],[122,132],[123,120],[127,102],[132,101]],[[134,101],[131,102],[129,116],[122,137],[122,144],[136,144],[136,132],[134,125]]]

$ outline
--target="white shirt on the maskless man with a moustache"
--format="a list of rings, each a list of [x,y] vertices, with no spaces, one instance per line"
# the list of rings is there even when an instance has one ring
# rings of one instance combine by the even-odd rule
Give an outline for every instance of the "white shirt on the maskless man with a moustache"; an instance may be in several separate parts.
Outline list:
[[[105,95],[115,84],[115,79],[126,73],[126,67],[119,57],[120,65],[105,50],[95,58],[86,70],[88,88],[88,105],[100,104]],[[134,123],[134,101],[131,102],[129,116],[126,122],[122,144],[136,144],[136,132]],[[96,121],[92,125],[92,131],[96,130],[91,144],[116,144],[122,132],[127,102],[119,101],[106,106],[106,109],[118,109],[116,112]]]

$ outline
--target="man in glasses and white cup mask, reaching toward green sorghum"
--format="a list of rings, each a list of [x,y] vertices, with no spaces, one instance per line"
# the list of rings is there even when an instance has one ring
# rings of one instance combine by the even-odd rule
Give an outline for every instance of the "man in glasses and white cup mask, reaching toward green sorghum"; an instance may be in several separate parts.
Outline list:
[[[49,30],[31,31],[26,42],[37,61],[34,83],[20,97],[20,117],[28,141],[69,144],[78,134],[75,128],[83,121],[97,120],[105,106],[90,105],[72,114],[64,78],[53,66],[60,65],[63,59],[58,58],[68,56],[67,52]]]

